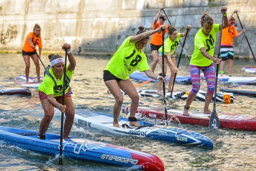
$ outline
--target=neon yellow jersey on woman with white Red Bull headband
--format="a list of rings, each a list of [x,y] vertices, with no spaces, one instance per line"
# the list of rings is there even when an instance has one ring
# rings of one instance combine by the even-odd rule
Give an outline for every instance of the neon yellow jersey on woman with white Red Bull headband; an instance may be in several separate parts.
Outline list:
[[[69,66],[67,65],[66,67],[66,75],[67,77],[69,77],[69,79],[71,80],[74,71],[69,71],[67,68]],[[63,87],[63,78],[64,78],[64,74],[62,75],[61,79],[58,81],[55,77],[55,75],[53,74],[52,68],[49,69],[50,74],[53,76],[57,88],[58,90],[53,90],[55,84],[52,80],[51,77],[45,75],[44,77],[44,81],[39,85],[38,90],[41,92],[44,92],[46,95],[49,94],[53,94],[53,97],[57,97],[57,96],[62,96],[62,87]],[[69,87],[67,86],[67,88],[65,89],[65,94],[67,93],[67,91],[69,91]]]

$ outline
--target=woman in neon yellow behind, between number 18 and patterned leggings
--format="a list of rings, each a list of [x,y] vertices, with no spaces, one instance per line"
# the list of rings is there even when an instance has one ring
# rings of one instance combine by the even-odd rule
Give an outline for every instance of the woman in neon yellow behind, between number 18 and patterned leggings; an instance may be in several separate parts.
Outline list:
[[[187,25],[188,29],[191,29],[190,25]],[[187,29],[183,33],[178,33],[177,29],[175,27],[169,27],[168,28],[168,38],[165,39],[165,74],[166,74],[166,59],[168,61],[169,68],[171,70],[171,76],[170,76],[170,81],[169,81],[169,86],[168,86],[168,91],[172,91],[172,83],[174,82],[174,76],[175,73],[178,72],[178,68],[176,67],[176,61],[175,61],[175,54],[174,51],[178,47],[179,44],[179,39],[181,37],[184,37],[187,33]],[[159,63],[162,71],[162,46],[158,50],[158,58],[159,58]],[[162,74],[162,73],[161,73]],[[157,94],[163,94],[161,91],[162,83],[158,82],[158,88],[157,88]]]

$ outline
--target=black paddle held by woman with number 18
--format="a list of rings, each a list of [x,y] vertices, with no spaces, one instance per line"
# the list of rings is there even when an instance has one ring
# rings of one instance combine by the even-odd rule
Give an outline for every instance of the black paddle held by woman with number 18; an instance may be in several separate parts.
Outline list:
[[[162,29],[162,74],[165,78],[165,30]],[[163,82],[163,103],[165,106],[165,126],[168,126],[168,115],[166,107],[165,82]]]

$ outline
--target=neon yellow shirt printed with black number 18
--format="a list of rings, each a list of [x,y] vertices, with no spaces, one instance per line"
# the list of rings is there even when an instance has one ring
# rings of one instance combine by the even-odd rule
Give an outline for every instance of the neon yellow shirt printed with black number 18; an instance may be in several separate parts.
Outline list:
[[[130,43],[131,37],[123,41],[103,71],[108,70],[117,78],[126,80],[137,69],[140,72],[150,70],[145,53],[137,51],[135,42]]]

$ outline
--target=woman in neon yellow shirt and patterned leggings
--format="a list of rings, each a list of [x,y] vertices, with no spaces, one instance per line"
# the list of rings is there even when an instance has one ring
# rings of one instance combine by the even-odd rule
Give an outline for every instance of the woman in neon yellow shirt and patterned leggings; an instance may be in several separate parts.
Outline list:
[[[222,7],[221,12],[224,14],[224,22],[222,29],[229,26],[227,18],[227,7]],[[200,70],[204,72],[207,82],[207,93],[205,96],[204,113],[211,114],[209,104],[215,90],[215,68],[213,62],[219,64],[221,59],[213,57],[216,42],[216,34],[221,29],[221,24],[213,24],[213,19],[207,13],[201,16],[200,24],[202,28],[195,35],[195,49],[190,60],[190,75],[192,82],[192,90],[187,96],[186,105],[184,106],[183,115],[189,115],[189,106],[194,101],[200,89]],[[219,40],[220,41],[220,40]]]

